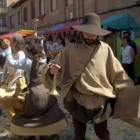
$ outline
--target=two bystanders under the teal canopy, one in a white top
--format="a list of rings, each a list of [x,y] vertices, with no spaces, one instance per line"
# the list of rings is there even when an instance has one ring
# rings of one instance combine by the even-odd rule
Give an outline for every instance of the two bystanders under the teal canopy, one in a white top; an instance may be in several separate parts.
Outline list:
[[[139,77],[135,76],[135,63],[138,57],[137,65],[138,69],[140,67],[140,52],[136,43],[131,40],[131,33],[126,31],[123,33],[122,47],[121,47],[121,62],[124,70],[127,72],[128,76],[134,81],[135,84],[140,84]],[[140,70],[140,69],[139,69]]]

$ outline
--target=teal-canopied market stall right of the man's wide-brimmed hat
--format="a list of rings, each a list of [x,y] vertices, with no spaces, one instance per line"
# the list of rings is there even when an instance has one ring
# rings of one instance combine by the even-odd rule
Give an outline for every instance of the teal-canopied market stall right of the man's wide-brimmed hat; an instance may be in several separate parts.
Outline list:
[[[120,59],[120,43],[117,43],[117,32],[120,31],[137,31],[140,32],[140,25],[128,13],[111,15],[102,21],[102,27],[114,31],[114,53]],[[119,41],[120,42],[120,41]]]

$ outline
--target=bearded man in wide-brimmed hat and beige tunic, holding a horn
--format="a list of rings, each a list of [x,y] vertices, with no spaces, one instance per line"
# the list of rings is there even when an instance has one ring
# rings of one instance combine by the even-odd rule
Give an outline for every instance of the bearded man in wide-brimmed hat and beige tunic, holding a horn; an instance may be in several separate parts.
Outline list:
[[[110,98],[133,82],[115,58],[110,46],[98,39],[110,32],[101,28],[100,17],[89,13],[83,23],[73,26],[81,42],[70,44],[61,54],[59,64],[50,63],[43,83],[50,88],[51,74],[59,74],[57,87],[66,94],[65,108],[73,117],[74,140],[85,140],[86,123],[94,124],[96,135],[109,140],[107,119],[111,116]],[[46,71],[46,70],[45,70]]]

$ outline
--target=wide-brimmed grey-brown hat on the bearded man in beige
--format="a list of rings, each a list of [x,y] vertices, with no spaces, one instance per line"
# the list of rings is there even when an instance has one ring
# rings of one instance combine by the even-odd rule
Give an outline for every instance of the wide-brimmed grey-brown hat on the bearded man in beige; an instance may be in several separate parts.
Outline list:
[[[101,19],[95,13],[88,13],[84,17],[81,25],[72,26],[72,28],[80,32],[85,32],[98,36],[104,36],[111,33],[110,31],[101,28]]]

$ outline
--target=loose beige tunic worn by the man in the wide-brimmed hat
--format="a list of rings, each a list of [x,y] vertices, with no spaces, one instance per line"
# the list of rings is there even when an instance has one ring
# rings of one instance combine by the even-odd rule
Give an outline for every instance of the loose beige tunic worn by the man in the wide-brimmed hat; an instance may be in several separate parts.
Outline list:
[[[75,83],[77,92],[73,96],[87,109],[102,107],[107,98],[115,98],[121,89],[133,85],[109,45],[101,42],[94,53],[93,49],[94,46],[70,44],[63,50],[60,61],[60,92],[70,92]],[[42,75],[43,83],[50,88],[52,75],[48,66],[43,72],[46,76]]]

